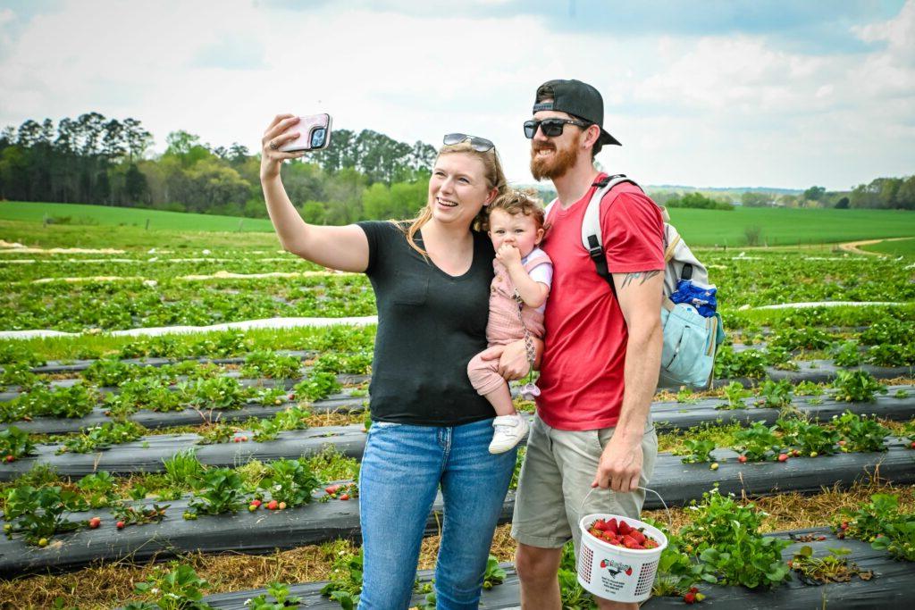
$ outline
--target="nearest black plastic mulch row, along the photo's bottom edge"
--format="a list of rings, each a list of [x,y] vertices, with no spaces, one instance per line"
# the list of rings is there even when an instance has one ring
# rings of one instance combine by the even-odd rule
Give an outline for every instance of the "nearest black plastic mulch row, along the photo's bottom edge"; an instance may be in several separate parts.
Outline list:
[[[715,608],[739,608],[741,610],[798,610],[822,608],[839,610],[871,610],[873,608],[910,608],[911,585],[915,582],[915,563],[897,562],[885,551],[874,551],[867,542],[860,540],[838,540],[830,530],[815,528],[773,532],[777,538],[791,538],[802,534],[825,536],[826,540],[794,542],[782,551],[785,561],[791,559],[802,546],[813,548],[815,557],[823,557],[830,548],[845,548],[851,551],[845,558],[855,562],[862,570],[873,570],[874,577],[863,581],[854,577],[848,583],[811,585],[803,583],[795,573],[791,581],[775,589],[751,590],[746,587],[716,586],[699,584],[699,590],[706,595],[704,605]],[[490,610],[516,608],[521,603],[521,587],[518,574],[511,563],[501,563],[506,572],[504,583],[484,590],[479,606]],[[435,573],[423,570],[417,573],[421,583],[428,583]],[[321,595],[321,588],[327,583],[302,583],[289,587],[291,594],[302,597],[302,606],[307,608],[339,608],[337,602]],[[233,593],[207,595],[203,601],[221,610],[244,610],[244,602],[252,597],[265,594],[265,589],[238,591]],[[269,599],[269,598],[268,598]],[[425,602],[424,594],[414,594],[411,607]],[[652,597],[643,608],[684,608],[682,597]],[[702,607],[702,605],[700,605]]]

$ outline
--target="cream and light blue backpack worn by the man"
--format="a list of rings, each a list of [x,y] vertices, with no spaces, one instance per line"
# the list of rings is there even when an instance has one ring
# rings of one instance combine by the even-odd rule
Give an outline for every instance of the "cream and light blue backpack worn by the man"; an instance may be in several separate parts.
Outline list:
[[[614,187],[628,182],[639,187],[633,180],[623,174],[605,177],[594,185],[597,187],[587,204],[585,217],[582,220],[581,241],[585,250],[594,261],[597,274],[610,285],[616,296],[617,289],[613,284],[604,254],[600,230],[600,201]],[[641,189],[641,187],[639,187]],[[544,213],[548,217],[554,203],[550,203]],[[612,201],[610,202],[612,205]],[[708,388],[715,370],[715,355],[719,345],[725,340],[725,330],[721,315],[707,310],[711,316],[703,316],[693,305],[674,304],[671,295],[678,291],[681,280],[689,280],[705,294],[711,294],[715,304],[715,286],[708,283],[708,271],[705,265],[695,257],[689,246],[680,237],[680,233],[670,224],[670,216],[661,208],[664,219],[664,299],[661,307],[661,325],[664,335],[664,347],[661,356],[661,374],[658,386],[677,388],[692,386]],[[687,286],[688,287],[688,286]],[[701,307],[700,307],[701,309]]]

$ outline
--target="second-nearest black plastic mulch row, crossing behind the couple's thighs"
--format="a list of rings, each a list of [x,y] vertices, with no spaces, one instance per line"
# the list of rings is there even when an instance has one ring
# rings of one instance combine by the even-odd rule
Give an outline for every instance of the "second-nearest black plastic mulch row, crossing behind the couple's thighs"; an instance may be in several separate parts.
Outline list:
[[[748,495],[770,493],[818,492],[823,487],[849,487],[858,480],[869,479],[877,466],[881,479],[898,485],[915,483],[915,451],[894,446],[883,454],[839,454],[817,458],[791,458],[786,463],[765,462],[739,464],[733,452],[716,452],[722,459],[718,470],[705,464],[684,465],[674,455],[661,454],[651,476],[649,487],[669,506],[701,499],[716,484],[722,493]],[[437,501],[437,500],[436,500]],[[147,505],[152,500],[145,501]],[[30,547],[16,535],[13,540],[0,538],[0,574],[27,571],[79,568],[96,559],[117,560],[133,556],[135,561],[162,554],[185,551],[272,552],[304,544],[317,544],[338,538],[359,540],[359,504],[356,501],[330,500],[298,508],[271,512],[261,508],[254,513],[242,509],[236,514],[197,520],[181,519],[187,499],[174,502],[160,524],[132,526],[122,531],[113,528],[114,519],[107,509],[76,513],[72,520],[93,516],[102,518],[102,528],[61,534],[47,548]],[[511,520],[514,496],[510,493],[502,510],[501,522]],[[436,504],[440,508],[440,505]],[[662,508],[649,494],[645,508]],[[430,517],[427,532],[437,530]]]

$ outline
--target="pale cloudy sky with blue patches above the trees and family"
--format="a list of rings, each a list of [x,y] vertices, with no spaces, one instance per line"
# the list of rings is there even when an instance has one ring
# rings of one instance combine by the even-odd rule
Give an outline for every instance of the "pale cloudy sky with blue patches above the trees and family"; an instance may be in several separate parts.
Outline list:
[[[458,5],[459,8],[453,5]],[[915,168],[915,0],[0,0],[0,125],[97,111],[259,146],[277,112],[438,144],[530,182],[544,80],[604,94],[645,184],[848,188]]]

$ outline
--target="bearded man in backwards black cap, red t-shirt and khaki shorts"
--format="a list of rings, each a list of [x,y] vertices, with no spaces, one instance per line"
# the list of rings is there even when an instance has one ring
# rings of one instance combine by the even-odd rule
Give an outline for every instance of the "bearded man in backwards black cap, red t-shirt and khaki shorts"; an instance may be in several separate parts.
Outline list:
[[[560,607],[562,547],[572,539],[577,553],[581,517],[639,517],[645,498],[639,487],[647,487],[658,451],[650,408],[662,352],[663,221],[632,184],[603,198],[600,222],[614,293],[581,242],[594,183],[605,177],[594,155],[605,144],[619,144],[603,119],[594,87],[550,80],[537,90],[533,121],[524,125],[531,173],[551,179],[558,194],[543,246],[554,262],[554,282],[541,395],[511,529],[524,608]],[[637,607],[603,599],[597,605]]]

